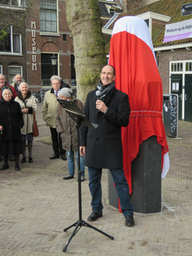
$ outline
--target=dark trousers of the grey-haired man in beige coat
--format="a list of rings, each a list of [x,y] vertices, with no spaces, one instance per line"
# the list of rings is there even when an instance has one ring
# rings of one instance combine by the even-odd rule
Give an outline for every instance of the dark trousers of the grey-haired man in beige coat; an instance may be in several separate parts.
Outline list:
[[[56,155],[66,154],[66,150],[62,148],[61,134],[58,134],[56,128],[50,128],[51,140],[53,145],[53,150]]]

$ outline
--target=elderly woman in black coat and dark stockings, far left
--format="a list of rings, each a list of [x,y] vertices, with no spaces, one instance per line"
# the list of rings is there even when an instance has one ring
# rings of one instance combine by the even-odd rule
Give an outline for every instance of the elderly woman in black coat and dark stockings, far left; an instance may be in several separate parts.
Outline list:
[[[23,127],[23,115],[20,104],[12,98],[12,90],[4,87],[0,102],[0,131],[1,147],[0,154],[3,155],[4,164],[0,170],[9,168],[8,156],[15,155],[15,171],[20,171],[19,156],[22,153],[20,129]]]

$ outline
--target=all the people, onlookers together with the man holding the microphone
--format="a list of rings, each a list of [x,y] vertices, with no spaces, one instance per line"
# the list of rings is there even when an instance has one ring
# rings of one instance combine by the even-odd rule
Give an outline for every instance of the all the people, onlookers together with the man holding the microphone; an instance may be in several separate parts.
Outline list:
[[[81,181],[84,181],[84,166],[88,166],[89,188],[92,196],[92,212],[88,221],[102,218],[102,169],[109,169],[115,188],[119,195],[121,211],[125,216],[125,225],[135,224],[133,206],[130,201],[129,185],[123,170],[123,148],[121,127],[129,124],[130,105],[127,94],[115,88],[115,69],[107,65],[102,68],[101,79],[96,87],[88,93],[85,104],[73,98],[73,90],[58,76],[52,76],[51,90],[44,96],[42,108],[43,119],[49,126],[54,154],[50,160],[60,158],[68,161],[68,175],[71,179],[75,173],[75,160],[78,162],[80,152]],[[0,75],[0,131],[4,164],[0,170],[9,168],[9,155],[15,155],[15,170],[19,171],[19,155],[22,163],[26,162],[26,143],[28,143],[29,162],[32,163],[32,113],[37,104],[28,85],[20,75],[15,76],[13,86],[7,84]],[[58,103],[57,98],[73,101],[90,123],[97,127],[80,126],[78,134],[75,121]],[[15,99],[15,100],[14,100]],[[66,157],[67,154],[67,157]],[[78,166],[78,163],[77,163]]]

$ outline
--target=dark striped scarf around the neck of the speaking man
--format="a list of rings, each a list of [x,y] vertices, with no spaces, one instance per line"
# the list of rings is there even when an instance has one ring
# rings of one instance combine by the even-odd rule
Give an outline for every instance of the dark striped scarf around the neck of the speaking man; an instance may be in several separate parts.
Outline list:
[[[103,86],[102,81],[100,80],[99,84],[96,87],[96,91],[100,91],[100,93],[98,93],[96,95],[99,95],[100,100],[102,102],[105,102],[105,104],[107,104],[108,101],[110,100],[114,90],[115,90],[114,81],[111,84]]]

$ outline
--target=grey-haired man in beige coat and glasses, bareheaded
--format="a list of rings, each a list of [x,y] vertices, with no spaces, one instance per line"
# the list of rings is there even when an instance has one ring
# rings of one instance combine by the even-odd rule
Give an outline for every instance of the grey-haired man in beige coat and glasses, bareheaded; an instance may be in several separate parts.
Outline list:
[[[50,156],[49,159],[53,160],[59,158],[61,155],[62,160],[67,160],[66,150],[62,148],[61,136],[56,131],[55,113],[57,107],[57,97],[59,91],[62,89],[61,79],[58,76],[52,76],[51,79],[52,89],[48,90],[44,95],[44,104],[42,108],[43,119],[46,125],[50,129],[51,140],[54,150],[54,155]]]

